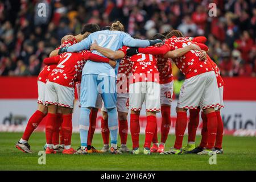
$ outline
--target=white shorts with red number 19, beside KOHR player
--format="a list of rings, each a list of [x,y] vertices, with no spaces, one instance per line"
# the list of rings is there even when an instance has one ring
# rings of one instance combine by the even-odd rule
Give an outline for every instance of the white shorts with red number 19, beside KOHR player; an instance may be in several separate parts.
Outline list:
[[[172,94],[174,93],[174,81],[160,84],[160,104],[172,105]]]

